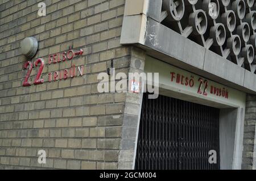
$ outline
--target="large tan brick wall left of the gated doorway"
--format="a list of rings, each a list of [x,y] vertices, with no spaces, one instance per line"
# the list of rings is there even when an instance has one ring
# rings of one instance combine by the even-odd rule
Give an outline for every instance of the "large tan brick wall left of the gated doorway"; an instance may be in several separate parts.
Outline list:
[[[38,16],[38,2],[46,3],[47,16]],[[126,94],[99,94],[97,75],[112,59],[116,71],[130,71],[133,48],[119,44],[124,4],[125,0],[0,0],[1,169],[118,169]],[[27,70],[22,70],[26,58],[19,44],[28,36],[39,40],[33,61],[46,61],[46,82],[22,87]],[[84,54],[48,65],[48,54],[70,46],[82,48]],[[48,72],[71,64],[85,65],[86,74],[47,82]],[[36,72],[33,69],[31,80]],[[47,163],[40,165],[37,152],[42,149]],[[122,157],[121,162],[126,160]]]

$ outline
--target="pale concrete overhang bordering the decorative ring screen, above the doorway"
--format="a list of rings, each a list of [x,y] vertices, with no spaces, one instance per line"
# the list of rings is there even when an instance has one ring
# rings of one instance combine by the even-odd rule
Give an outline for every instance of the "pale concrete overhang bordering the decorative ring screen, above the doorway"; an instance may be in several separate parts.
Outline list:
[[[135,2],[136,1],[136,2]],[[131,4],[138,3],[136,9]],[[121,44],[234,89],[256,94],[256,75],[160,24],[159,1],[126,1]]]

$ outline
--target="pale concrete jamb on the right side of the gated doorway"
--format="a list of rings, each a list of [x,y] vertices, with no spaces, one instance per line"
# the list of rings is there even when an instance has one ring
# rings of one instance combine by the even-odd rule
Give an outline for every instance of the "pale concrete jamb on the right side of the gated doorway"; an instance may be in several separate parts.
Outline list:
[[[240,170],[245,107],[220,110],[220,168]]]

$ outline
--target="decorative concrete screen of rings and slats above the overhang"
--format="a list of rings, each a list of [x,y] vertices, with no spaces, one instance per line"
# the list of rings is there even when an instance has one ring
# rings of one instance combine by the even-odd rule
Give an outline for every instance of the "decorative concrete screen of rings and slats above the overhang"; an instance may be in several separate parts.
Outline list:
[[[163,0],[161,23],[255,73],[254,0]]]

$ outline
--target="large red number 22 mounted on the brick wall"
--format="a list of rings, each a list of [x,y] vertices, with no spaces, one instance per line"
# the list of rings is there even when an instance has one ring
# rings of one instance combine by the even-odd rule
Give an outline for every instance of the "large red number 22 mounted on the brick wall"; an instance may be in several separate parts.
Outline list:
[[[34,81],[34,85],[39,85],[39,84],[42,84],[44,82],[44,79],[41,79],[41,74],[42,74],[42,71],[44,69],[44,60],[43,60],[43,58],[38,58],[38,60],[35,61],[35,67],[37,67],[38,64],[40,64],[40,68],[38,70],[38,74],[36,75],[36,78],[35,78],[35,81]],[[22,83],[22,86],[23,87],[31,86],[32,83],[29,82],[28,79],[30,78],[31,71],[33,69],[32,62],[31,61],[27,61],[23,65],[23,69],[28,69],[28,71],[27,71],[26,78],[24,79],[24,81]]]

